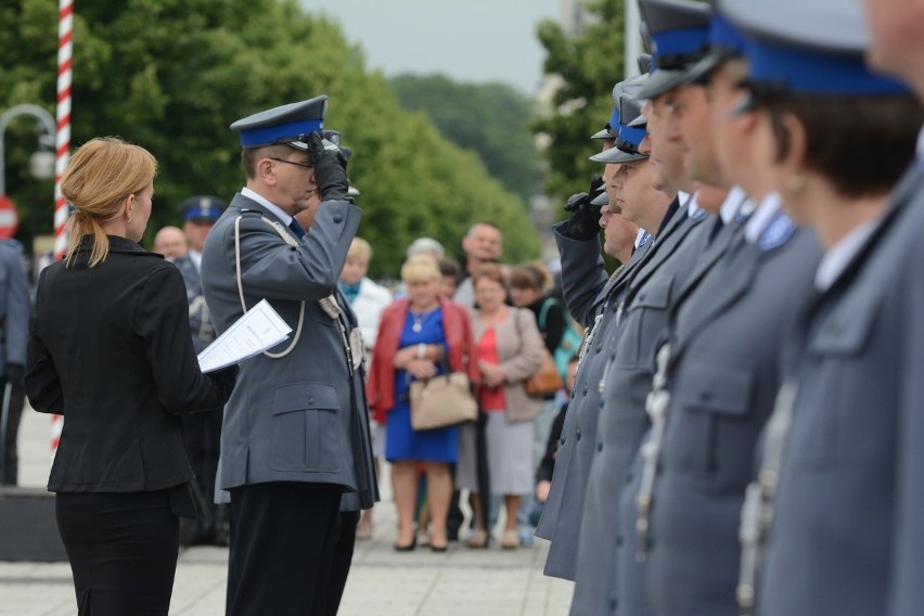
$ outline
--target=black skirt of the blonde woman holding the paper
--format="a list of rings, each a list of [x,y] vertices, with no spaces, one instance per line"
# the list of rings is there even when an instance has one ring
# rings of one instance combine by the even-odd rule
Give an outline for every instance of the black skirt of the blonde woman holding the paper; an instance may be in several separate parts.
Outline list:
[[[179,552],[170,490],[59,493],[80,616],[166,616]]]

